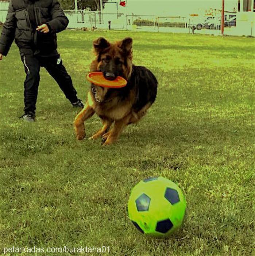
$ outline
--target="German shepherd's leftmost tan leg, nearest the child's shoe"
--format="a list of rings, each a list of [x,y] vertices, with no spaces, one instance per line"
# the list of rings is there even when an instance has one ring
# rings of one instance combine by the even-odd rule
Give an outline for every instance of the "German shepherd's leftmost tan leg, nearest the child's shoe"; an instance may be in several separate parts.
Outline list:
[[[92,117],[94,113],[94,109],[89,106],[89,103],[87,101],[84,108],[81,110],[80,113],[77,114],[74,120],[74,129],[77,140],[84,139],[86,135],[84,121],[89,117]]]

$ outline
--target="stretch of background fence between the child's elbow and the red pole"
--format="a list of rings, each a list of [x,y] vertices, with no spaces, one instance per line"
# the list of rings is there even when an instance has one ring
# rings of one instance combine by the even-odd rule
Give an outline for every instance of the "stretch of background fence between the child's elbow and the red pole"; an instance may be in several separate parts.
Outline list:
[[[65,10],[69,29],[116,29],[171,33],[219,34],[221,20],[196,19],[181,16],[158,17],[155,15],[126,15],[123,13],[100,13]],[[199,31],[198,31],[199,30]]]

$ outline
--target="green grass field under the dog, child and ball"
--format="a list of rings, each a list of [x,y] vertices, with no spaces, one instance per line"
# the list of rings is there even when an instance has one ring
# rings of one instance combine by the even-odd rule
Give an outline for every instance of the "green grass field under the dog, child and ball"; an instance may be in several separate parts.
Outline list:
[[[147,116],[112,146],[74,138],[77,110],[43,69],[37,121],[20,121],[18,48],[0,62],[0,254],[105,245],[109,255],[252,255],[254,38],[65,31],[58,49],[83,100],[99,36],[131,36],[134,64],[159,81]],[[87,137],[100,127],[90,118]],[[132,187],[150,176],[173,180],[187,200],[183,226],[169,238],[145,237],[127,216]]]

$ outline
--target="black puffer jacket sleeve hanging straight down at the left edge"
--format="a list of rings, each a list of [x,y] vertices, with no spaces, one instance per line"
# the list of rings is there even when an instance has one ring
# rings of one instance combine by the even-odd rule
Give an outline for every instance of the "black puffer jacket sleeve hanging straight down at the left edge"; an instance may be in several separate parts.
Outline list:
[[[0,53],[6,56],[15,37],[16,18],[12,6],[12,0],[9,3],[7,17],[0,37]]]

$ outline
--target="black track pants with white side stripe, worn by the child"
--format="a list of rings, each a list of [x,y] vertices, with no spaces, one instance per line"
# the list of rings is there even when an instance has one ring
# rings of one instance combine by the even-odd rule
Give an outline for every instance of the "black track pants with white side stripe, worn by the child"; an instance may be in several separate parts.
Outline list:
[[[24,82],[25,113],[35,113],[35,105],[40,81],[40,67],[46,68],[70,102],[74,103],[78,100],[76,90],[73,87],[72,79],[67,74],[59,55],[54,57],[39,57],[34,56],[33,54],[23,53],[21,54],[21,59],[27,74]]]

